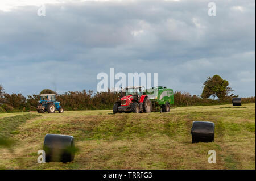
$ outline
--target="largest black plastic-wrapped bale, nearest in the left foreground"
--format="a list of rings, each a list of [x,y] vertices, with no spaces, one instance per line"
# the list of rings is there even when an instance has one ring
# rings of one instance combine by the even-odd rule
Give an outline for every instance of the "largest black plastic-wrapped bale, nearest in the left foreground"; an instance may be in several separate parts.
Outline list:
[[[75,157],[73,136],[46,134],[44,137],[46,162],[71,162]]]

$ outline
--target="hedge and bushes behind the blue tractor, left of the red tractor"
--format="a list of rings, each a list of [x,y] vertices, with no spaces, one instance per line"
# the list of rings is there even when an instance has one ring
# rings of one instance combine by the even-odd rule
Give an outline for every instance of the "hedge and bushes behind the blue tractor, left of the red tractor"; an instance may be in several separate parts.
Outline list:
[[[45,89],[40,94],[55,94],[56,100],[66,111],[72,110],[106,110],[112,109],[114,102],[118,99],[118,93],[86,91],[68,91],[65,94]],[[39,94],[39,95],[40,95]],[[35,111],[39,95],[7,94],[0,85],[0,113]]]

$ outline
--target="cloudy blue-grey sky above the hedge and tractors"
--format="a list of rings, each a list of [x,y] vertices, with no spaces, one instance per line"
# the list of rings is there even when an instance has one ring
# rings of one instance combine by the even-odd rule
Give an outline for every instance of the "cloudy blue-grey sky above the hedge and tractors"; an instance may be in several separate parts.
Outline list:
[[[110,68],[158,73],[159,85],[192,95],[218,74],[233,94],[255,96],[255,1],[0,1],[6,92],[96,91]]]

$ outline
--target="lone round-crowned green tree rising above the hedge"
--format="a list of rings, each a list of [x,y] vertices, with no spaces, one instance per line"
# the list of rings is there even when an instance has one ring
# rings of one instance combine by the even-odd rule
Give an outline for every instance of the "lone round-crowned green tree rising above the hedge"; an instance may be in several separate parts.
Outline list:
[[[204,82],[204,89],[201,94],[201,97],[204,99],[213,96],[214,98],[217,96],[218,99],[223,100],[228,96],[230,92],[232,92],[232,88],[228,87],[229,82],[222,79],[220,75],[214,75],[213,77],[208,77]]]

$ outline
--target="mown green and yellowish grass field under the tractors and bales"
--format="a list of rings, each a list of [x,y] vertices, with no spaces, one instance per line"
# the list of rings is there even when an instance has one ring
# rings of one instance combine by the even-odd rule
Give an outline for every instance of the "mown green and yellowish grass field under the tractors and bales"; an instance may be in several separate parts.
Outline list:
[[[191,144],[192,121],[213,121],[215,141]],[[47,133],[75,137],[71,163],[37,163]],[[66,111],[0,114],[0,169],[255,169],[255,104],[195,106],[170,113]],[[0,145],[1,146],[1,145]],[[216,164],[208,151],[216,151]]]

